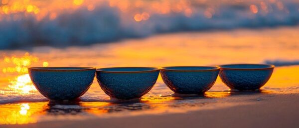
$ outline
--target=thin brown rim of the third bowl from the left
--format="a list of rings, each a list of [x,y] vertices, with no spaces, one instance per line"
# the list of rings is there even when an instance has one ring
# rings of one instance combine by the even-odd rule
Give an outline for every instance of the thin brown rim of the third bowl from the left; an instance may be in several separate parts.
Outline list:
[[[196,69],[196,70],[167,69],[170,67],[209,67],[209,68],[213,68],[213,69]],[[162,67],[161,70],[176,71],[176,72],[205,72],[205,71],[217,71],[217,70],[220,70],[220,67],[219,66],[167,66],[167,67]]]

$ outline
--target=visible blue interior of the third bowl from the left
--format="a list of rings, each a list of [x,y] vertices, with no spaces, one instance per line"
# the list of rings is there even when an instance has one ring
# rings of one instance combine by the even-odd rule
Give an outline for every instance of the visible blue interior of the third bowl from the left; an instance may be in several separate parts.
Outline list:
[[[198,70],[213,70],[219,67],[209,67],[209,66],[175,66],[175,67],[163,67],[166,70],[188,70],[188,71],[198,71]]]

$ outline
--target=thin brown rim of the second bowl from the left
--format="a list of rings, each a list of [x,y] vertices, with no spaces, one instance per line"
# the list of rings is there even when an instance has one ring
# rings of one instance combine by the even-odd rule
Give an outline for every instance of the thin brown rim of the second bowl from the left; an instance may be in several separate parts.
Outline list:
[[[113,69],[113,68],[151,68],[151,70],[140,70],[140,71],[104,71],[103,69]],[[98,68],[96,72],[106,72],[106,73],[145,73],[145,72],[155,72],[159,71],[160,68],[157,67],[107,67],[107,68]]]

